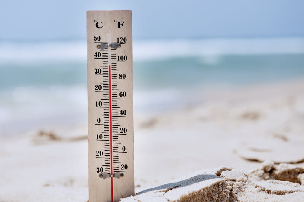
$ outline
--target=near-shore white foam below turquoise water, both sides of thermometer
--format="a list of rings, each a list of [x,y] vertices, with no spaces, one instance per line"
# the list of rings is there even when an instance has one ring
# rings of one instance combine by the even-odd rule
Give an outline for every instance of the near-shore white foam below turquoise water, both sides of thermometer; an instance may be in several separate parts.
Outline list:
[[[181,104],[174,89],[134,91],[135,111],[159,111]],[[17,87],[0,90],[0,137],[49,126],[87,121],[87,89],[80,86]],[[18,126],[18,127],[16,127]],[[21,134],[21,133],[20,133]]]

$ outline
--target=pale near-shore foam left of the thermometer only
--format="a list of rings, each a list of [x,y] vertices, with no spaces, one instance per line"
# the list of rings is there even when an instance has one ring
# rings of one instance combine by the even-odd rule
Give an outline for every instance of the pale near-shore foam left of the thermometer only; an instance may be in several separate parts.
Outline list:
[[[0,97],[0,136],[54,123],[79,123],[87,118],[85,87],[24,86],[1,90]]]

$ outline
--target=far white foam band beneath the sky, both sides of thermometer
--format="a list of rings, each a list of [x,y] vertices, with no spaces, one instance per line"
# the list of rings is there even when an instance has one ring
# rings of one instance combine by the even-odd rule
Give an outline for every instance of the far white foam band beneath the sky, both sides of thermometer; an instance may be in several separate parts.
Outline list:
[[[180,56],[304,53],[304,38],[134,40],[133,60]],[[86,60],[86,42],[0,43],[0,63]]]

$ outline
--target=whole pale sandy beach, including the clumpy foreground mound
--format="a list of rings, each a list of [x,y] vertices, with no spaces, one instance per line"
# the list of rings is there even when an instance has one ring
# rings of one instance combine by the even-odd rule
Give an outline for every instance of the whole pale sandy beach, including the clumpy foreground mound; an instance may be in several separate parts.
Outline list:
[[[304,79],[202,96],[135,113],[138,194],[122,201],[304,201]],[[86,202],[87,152],[86,123],[2,138],[0,202]]]

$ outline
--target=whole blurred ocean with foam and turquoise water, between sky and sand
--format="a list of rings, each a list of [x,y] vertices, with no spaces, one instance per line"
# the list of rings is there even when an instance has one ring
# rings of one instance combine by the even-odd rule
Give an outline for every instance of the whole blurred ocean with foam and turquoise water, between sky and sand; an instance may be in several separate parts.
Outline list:
[[[85,41],[0,42],[0,136],[87,120]],[[304,78],[304,38],[133,41],[134,112]]]

